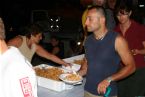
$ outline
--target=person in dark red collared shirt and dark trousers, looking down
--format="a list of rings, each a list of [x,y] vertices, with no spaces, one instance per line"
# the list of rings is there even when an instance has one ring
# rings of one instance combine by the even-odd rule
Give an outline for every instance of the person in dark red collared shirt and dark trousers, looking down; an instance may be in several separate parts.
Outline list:
[[[120,97],[145,95],[142,92],[145,90],[143,83],[145,79],[142,78],[145,72],[145,26],[132,19],[132,13],[133,10],[129,3],[121,3],[115,10],[119,23],[114,30],[119,32],[128,42],[137,68],[137,72],[132,76],[119,82],[119,90],[122,91]],[[137,81],[135,82],[135,80]]]

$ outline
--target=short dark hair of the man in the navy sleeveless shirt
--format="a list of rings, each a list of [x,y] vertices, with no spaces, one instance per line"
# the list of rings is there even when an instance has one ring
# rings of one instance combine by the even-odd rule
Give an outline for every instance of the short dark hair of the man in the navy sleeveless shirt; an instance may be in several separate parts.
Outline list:
[[[99,12],[101,15],[103,15],[106,18],[106,10],[103,6],[98,5],[90,5],[88,6],[88,10],[96,9],[97,12]]]

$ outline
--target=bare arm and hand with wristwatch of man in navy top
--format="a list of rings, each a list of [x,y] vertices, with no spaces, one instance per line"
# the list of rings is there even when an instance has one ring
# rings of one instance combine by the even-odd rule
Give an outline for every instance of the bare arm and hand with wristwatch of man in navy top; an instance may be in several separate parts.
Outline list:
[[[122,36],[118,36],[115,40],[115,49],[121,57],[124,66],[115,74],[108,76],[101,81],[98,85],[98,93],[105,93],[106,88],[110,85],[111,81],[118,81],[123,79],[135,71],[135,62],[131,51],[129,50],[126,40]]]

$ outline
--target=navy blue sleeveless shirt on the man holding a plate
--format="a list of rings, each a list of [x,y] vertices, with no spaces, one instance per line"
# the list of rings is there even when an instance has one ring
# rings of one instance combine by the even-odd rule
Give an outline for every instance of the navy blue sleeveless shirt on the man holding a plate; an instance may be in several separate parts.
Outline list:
[[[115,51],[115,39],[118,33],[107,32],[103,39],[95,39],[94,34],[88,36],[85,41],[85,56],[88,61],[85,90],[99,95],[97,92],[98,84],[116,73],[120,65],[120,57]],[[117,95],[116,82],[110,83],[110,96]]]

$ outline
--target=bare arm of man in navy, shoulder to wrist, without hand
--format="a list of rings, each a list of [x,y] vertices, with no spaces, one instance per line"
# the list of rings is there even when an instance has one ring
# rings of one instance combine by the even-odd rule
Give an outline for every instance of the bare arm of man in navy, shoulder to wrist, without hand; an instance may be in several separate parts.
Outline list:
[[[113,81],[123,79],[135,71],[135,61],[131,50],[128,47],[128,43],[122,36],[118,36],[115,41],[115,49],[121,57],[124,66],[119,72],[111,76]]]

